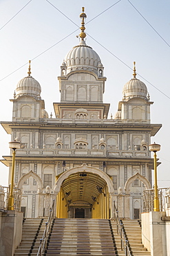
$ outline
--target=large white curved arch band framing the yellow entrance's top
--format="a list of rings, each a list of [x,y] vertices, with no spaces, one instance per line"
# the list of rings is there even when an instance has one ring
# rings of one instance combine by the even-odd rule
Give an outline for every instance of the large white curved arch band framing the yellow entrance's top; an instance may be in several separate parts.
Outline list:
[[[110,194],[114,193],[114,186],[109,176],[105,172],[99,170],[98,168],[87,166],[85,163],[83,163],[83,165],[79,167],[74,167],[70,170],[63,172],[63,174],[61,174],[61,176],[59,176],[59,179],[56,181],[56,185],[54,186],[54,192],[56,194],[59,193],[61,184],[63,183],[63,181],[67,179],[68,176],[70,176],[71,174],[76,174],[77,172],[91,172],[93,174],[97,174],[98,176],[100,176],[102,179],[106,181],[109,193]]]

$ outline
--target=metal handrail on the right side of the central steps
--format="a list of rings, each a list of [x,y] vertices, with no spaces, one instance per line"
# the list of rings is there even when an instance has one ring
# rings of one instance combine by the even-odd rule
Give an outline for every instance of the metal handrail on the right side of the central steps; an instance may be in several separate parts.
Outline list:
[[[114,201],[114,220],[116,221],[117,234],[120,235],[120,245],[121,250],[125,251],[125,256],[133,256],[131,250],[129,250],[129,241],[127,240],[125,230],[123,228],[123,223],[118,217],[118,210],[116,208],[116,203]]]

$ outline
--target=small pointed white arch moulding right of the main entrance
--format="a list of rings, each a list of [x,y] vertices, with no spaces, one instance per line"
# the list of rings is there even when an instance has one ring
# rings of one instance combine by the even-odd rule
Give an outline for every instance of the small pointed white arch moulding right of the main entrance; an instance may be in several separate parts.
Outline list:
[[[133,183],[133,181],[135,181],[136,179],[139,179],[140,181],[142,181],[142,183],[144,183],[145,187],[147,190],[149,190],[151,188],[151,183],[142,175],[140,175],[138,172],[136,174],[134,174],[133,176],[131,176],[127,182],[125,183],[125,193],[129,194],[130,192],[130,185],[131,183]]]

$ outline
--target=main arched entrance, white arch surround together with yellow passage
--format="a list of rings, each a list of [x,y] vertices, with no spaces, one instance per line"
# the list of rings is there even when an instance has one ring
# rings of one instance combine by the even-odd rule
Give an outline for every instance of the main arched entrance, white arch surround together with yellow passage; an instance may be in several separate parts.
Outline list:
[[[83,164],[57,177],[56,217],[109,219],[113,183],[105,172]]]

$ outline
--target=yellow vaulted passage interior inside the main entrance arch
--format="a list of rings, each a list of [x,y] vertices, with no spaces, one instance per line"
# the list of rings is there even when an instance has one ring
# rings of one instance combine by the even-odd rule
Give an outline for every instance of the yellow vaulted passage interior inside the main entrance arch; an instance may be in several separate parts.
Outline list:
[[[109,219],[106,181],[92,172],[76,172],[61,184],[57,217]]]

